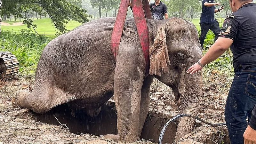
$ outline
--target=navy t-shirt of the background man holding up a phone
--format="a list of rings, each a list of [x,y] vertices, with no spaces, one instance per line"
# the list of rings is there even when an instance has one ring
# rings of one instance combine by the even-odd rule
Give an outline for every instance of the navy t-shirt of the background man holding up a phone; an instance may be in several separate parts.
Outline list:
[[[213,23],[215,6],[207,7],[204,3],[214,3],[213,0],[203,0],[200,23]]]

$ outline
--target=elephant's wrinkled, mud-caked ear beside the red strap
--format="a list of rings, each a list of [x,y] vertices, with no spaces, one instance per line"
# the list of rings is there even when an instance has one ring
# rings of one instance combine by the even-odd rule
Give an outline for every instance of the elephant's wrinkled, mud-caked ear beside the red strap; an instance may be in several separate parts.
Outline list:
[[[170,59],[168,55],[165,27],[163,26],[157,32],[154,39],[153,45],[149,48],[150,57],[150,75],[161,76],[163,73],[169,73],[168,65],[170,64]]]

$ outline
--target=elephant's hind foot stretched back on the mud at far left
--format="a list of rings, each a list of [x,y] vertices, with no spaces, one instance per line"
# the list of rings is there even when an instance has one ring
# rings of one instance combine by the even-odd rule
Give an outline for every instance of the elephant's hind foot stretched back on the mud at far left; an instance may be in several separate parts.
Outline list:
[[[12,95],[12,107],[19,108],[22,107],[22,102],[28,97],[29,91],[19,90]]]

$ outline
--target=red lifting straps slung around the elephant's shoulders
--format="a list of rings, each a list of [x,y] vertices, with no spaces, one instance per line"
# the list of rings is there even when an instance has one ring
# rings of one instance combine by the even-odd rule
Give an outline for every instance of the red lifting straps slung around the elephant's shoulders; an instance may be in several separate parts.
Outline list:
[[[120,7],[117,13],[116,22],[114,25],[112,37],[111,37],[111,49],[114,54],[115,60],[118,54],[118,48],[120,45],[120,40],[124,28],[124,22],[127,15],[128,5],[130,0],[121,0]],[[145,15],[148,19],[152,19],[150,12],[148,0],[131,0],[132,3],[132,12],[134,15],[135,24],[137,27],[137,32],[140,39],[140,45],[143,51],[143,55],[146,61],[146,74],[148,76],[149,68],[149,41],[148,41],[148,28]],[[143,10],[144,6],[144,10]],[[144,11],[146,14],[144,14]]]

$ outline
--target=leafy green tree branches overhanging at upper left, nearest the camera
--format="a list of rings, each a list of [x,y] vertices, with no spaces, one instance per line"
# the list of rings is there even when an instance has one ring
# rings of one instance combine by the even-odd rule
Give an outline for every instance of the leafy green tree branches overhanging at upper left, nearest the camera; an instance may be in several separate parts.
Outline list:
[[[15,17],[24,18],[23,23],[27,24],[28,28],[31,26],[34,28],[36,25],[33,25],[33,20],[30,20],[29,15],[24,17],[22,12],[28,14],[28,12],[34,11],[44,17],[49,15],[55,28],[61,33],[68,31],[65,26],[68,21],[75,20],[85,23],[89,21],[88,18],[92,17],[87,14],[86,10],[70,4],[67,0],[33,0],[33,2],[31,0],[2,0],[2,2],[0,15],[6,14],[7,17],[10,17],[12,14]]]

